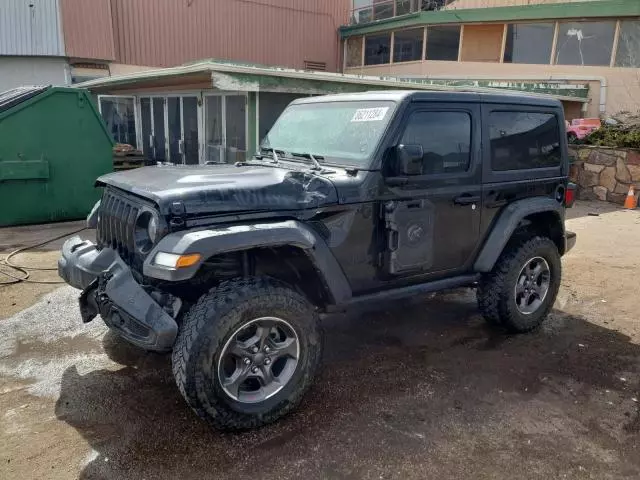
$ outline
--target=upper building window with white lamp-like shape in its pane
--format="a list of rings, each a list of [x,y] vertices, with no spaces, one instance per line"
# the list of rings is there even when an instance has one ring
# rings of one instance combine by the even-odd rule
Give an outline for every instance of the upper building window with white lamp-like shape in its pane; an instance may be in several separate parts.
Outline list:
[[[609,66],[616,22],[560,23],[556,45],[558,65]]]

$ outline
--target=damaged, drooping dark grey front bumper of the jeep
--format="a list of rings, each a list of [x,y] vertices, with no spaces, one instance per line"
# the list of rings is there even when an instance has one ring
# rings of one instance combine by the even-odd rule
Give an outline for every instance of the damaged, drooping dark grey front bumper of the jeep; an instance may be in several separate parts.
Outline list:
[[[82,290],[84,322],[99,313],[110,328],[139,347],[159,352],[173,347],[178,324],[134,279],[115,250],[98,250],[88,240],[70,238],[62,246],[58,274]]]

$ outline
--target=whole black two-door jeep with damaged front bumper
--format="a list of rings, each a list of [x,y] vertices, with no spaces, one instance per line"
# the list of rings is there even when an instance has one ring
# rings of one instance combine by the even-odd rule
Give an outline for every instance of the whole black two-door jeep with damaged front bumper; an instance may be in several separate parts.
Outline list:
[[[575,243],[566,142],[545,98],[299,99],[245,162],[99,178],[97,244],[68,240],[59,273],[85,322],[173,352],[196,413],[257,427],[309,388],[320,313],[477,287],[491,324],[540,325]]]

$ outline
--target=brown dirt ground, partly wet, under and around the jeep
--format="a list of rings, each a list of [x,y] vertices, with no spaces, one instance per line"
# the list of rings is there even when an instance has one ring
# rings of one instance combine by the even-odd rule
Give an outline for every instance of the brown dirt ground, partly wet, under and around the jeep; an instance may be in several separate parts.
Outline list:
[[[303,404],[242,434],[192,414],[167,356],[82,325],[77,291],[0,287],[0,478],[640,478],[640,210],[570,217],[539,331],[491,330],[470,290],[328,318]]]

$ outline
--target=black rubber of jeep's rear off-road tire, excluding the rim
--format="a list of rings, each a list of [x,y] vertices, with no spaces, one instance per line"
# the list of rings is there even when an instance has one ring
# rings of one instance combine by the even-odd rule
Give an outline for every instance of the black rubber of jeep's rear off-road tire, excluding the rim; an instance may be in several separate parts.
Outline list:
[[[522,267],[534,257],[544,258],[551,270],[549,291],[540,307],[524,315],[516,306],[515,285]],[[538,328],[549,314],[558,295],[562,263],[555,243],[546,237],[514,238],[500,255],[493,270],[481,279],[478,307],[485,320],[512,333]]]

